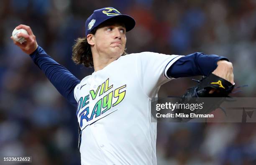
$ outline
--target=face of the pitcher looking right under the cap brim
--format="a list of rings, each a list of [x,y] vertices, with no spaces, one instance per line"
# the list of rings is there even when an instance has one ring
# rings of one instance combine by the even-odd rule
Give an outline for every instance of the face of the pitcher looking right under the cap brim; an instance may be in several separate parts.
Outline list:
[[[119,58],[125,50],[126,29],[123,24],[104,23],[97,28],[95,35],[88,36],[87,41],[92,46],[92,53]]]

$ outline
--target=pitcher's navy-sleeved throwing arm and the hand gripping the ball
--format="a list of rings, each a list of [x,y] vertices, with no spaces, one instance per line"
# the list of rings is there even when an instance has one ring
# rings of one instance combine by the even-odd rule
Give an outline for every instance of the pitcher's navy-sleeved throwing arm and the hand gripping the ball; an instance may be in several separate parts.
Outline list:
[[[77,102],[74,99],[74,87],[80,83],[80,80],[71,74],[64,66],[54,61],[53,58],[47,55],[47,53],[37,45],[36,36],[33,35],[29,26],[19,25],[16,28],[27,30],[28,35],[23,33],[18,34],[18,37],[24,37],[26,42],[21,44],[13,41],[15,45],[19,46],[25,53],[30,54],[34,63],[44,71],[44,74],[46,74],[47,78],[59,93],[64,96],[70,104],[76,107]]]

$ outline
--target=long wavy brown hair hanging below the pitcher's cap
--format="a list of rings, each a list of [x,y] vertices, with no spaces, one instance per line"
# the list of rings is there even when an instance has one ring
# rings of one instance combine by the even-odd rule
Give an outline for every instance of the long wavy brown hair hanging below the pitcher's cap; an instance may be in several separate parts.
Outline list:
[[[90,34],[95,35],[97,28],[93,29]],[[72,60],[76,64],[83,64],[86,67],[93,67],[91,46],[87,42],[87,38],[77,38],[72,47]],[[122,54],[126,55],[126,48]]]

